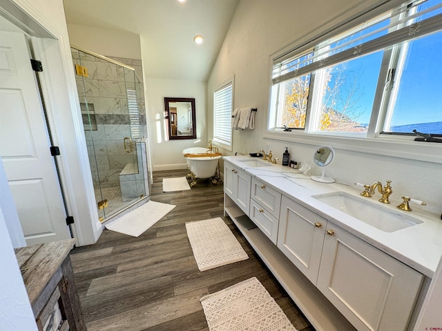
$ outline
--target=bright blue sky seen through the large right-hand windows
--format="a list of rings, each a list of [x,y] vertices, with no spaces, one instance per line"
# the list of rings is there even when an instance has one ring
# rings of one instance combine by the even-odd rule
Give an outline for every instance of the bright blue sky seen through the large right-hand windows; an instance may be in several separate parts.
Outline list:
[[[419,6],[419,10],[431,8],[439,3],[441,3],[441,0],[427,1]],[[442,12],[442,8],[424,14],[418,21],[427,19],[429,16],[434,16],[434,14],[439,14],[440,12]],[[381,35],[387,33],[383,28],[389,23],[390,20],[385,19],[378,21],[378,23],[373,26],[367,26],[364,30],[365,33],[378,32],[372,36],[367,34],[367,37],[364,37],[361,41],[357,41],[358,34],[354,34],[352,38],[356,38],[356,43],[365,43],[369,40],[381,37]],[[419,33],[417,35],[419,36]],[[345,39],[336,41],[331,47],[334,48],[339,43],[345,44],[345,42]],[[346,48],[354,47],[356,43]],[[394,89],[398,89],[398,93],[392,117],[392,126],[442,121],[441,54],[442,32],[420,39],[414,39],[408,43],[403,72],[396,70],[394,77]],[[383,51],[379,51],[348,61],[345,64],[347,70],[355,72],[357,77],[359,90],[356,95],[360,97],[358,112],[364,111],[358,119],[359,123],[369,123],[382,57]],[[333,84],[333,80],[331,84]],[[343,90],[343,92],[341,92],[341,98],[345,99],[345,88],[341,90]],[[342,110],[338,107],[337,109]]]

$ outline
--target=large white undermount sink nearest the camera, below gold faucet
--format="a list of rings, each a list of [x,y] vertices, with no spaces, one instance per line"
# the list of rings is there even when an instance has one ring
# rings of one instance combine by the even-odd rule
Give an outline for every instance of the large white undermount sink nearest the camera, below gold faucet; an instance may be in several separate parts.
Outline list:
[[[376,197],[371,198],[376,199],[375,201],[369,201],[370,198],[356,197],[346,192],[332,192],[311,197],[385,232],[395,232],[423,223],[421,219],[410,214],[387,208],[378,202]]]

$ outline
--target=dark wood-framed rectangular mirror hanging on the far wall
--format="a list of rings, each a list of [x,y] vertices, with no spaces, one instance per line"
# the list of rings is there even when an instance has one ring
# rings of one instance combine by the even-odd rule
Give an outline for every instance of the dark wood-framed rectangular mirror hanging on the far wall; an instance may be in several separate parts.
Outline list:
[[[169,139],[196,139],[195,98],[164,98]]]

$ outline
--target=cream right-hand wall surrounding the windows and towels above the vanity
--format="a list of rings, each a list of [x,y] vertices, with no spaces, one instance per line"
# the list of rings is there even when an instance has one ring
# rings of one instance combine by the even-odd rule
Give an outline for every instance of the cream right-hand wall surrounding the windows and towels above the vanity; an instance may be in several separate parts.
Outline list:
[[[302,161],[312,160],[317,146],[328,145],[327,137],[319,143],[311,143],[308,138],[301,143],[263,138],[266,134],[269,105],[271,55],[287,48],[294,41],[305,40],[307,34],[317,34],[321,29],[344,21],[345,17],[352,16],[362,6],[367,8],[374,3],[375,0],[241,0],[209,78],[207,122],[212,123],[213,120],[213,90],[233,74],[234,108],[253,106],[258,108],[258,112],[256,129],[233,130],[233,151],[223,150],[223,154],[247,154],[256,152],[259,148],[266,149],[268,144],[273,155],[280,160],[284,147],[288,146],[290,159]],[[333,19],[334,17],[337,18]],[[212,132],[213,128],[210,126],[209,137]],[[318,173],[319,169],[315,171]],[[385,183],[390,179],[394,191],[392,201],[399,200],[401,195],[412,196],[425,201],[427,210],[441,213],[440,163],[383,156],[376,154],[376,150],[373,154],[368,154],[336,148],[336,159],[326,172],[328,176],[345,183]]]

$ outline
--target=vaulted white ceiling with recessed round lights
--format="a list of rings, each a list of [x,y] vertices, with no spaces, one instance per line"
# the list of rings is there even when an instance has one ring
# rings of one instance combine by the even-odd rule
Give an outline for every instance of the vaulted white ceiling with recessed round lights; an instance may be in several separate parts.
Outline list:
[[[140,34],[149,77],[206,81],[238,2],[64,0],[64,6],[68,24]],[[196,34],[202,45],[193,42]]]

